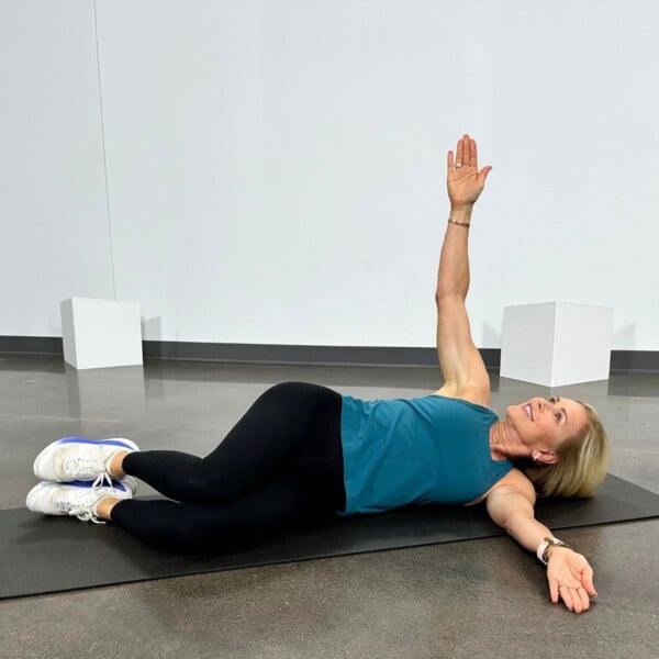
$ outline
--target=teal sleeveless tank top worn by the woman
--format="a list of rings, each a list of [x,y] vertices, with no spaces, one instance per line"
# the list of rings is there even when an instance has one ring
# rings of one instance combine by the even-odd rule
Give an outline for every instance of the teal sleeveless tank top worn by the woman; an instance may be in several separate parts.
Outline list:
[[[493,460],[488,407],[460,399],[362,401],[343,395],[346,509],[378,513],[406,504],[465,504],[512,468]]]

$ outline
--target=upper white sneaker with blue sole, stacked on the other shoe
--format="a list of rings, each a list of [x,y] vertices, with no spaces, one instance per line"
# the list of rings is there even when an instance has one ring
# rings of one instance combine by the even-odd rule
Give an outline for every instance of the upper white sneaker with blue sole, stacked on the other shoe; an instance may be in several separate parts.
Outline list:
[[[94,485],[110,484],[112,477],[108,469],[118,450],[133,451],[139,447],[123,438],[64,437],[48,444],[36,456],[34,476],[57,483],[92,481]]]

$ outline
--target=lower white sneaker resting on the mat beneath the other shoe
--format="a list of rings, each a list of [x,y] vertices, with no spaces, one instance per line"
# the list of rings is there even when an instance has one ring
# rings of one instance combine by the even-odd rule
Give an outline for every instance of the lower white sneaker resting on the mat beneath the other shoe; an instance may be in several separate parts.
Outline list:
[[[34,513],[71,515],[82,522],[104,524],[96,513],[96,504],[105,496],[133,499],[133,492],[121,481],[92,488],[89,482],[52,483],[43,481],[27,493],[25,505]]]

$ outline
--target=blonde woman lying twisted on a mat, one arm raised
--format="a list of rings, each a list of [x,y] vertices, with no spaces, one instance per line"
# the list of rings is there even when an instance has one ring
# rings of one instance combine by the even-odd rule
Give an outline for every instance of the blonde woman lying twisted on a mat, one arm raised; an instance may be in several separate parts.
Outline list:
[[[448,153],[451,204],[437,278],[437,351],[445,383],[411,400],[366,402],[302,382],[266,391],[205,458],[139,451],[129,439],[69,437],[34,462],[44,482],[27,507],[112,521],[152,546],[221,551],[300,521],[406,504],[485,500],[492,520],[547,565],[552,602],[596,596],[587,559],[534,517],[541,496],[589,496],[606,471],[606,436],[576,400],[534,398],[498,420],[465,299],[479,171],[468,135]],[[133,499],[136,477],[167,500]]]

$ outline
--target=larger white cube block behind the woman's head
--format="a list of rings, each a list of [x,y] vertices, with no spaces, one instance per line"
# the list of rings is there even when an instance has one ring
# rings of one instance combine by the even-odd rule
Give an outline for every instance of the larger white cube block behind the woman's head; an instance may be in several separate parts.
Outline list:
[[[608,379],[613,309],[546,302],[505,306],[502,378],[545,387]]]

